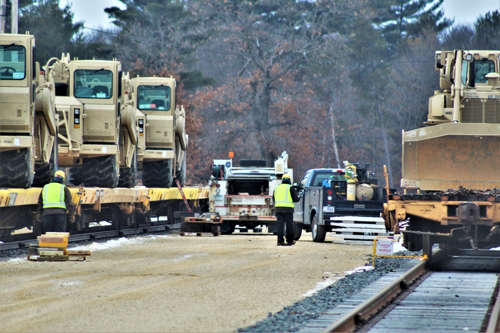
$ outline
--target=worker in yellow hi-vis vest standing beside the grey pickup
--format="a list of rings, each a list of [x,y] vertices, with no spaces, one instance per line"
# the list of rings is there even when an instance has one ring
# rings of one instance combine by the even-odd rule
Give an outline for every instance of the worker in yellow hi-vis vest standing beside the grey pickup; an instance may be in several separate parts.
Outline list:
[[[274,201],[274,215],[276,216],[278,246],[295,244],[293,240],[293,203],[300,201],[297,191],[291,186],[290,176],[285,173],[281,176],[281,184],[274,188],[272,193]],[[285,234],[286,225],[286,235]],[[286,243],[284,237],[286,236]]]

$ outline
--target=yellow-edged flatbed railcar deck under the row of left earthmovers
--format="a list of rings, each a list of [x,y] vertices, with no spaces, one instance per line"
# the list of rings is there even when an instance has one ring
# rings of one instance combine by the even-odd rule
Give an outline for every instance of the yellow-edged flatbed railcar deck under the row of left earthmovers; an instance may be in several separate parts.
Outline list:
[[[95,228],[121,230],[172,224],[173,213],[185,210],[183,198],[176,187],[68,188],[76,210],[75,222],[68,224],[71,234],[88,232],[89,229],[97,230]],[[0,189],[1,241],[10,241],[11,234],[23,228],[39,235],[40,225],[36,222],[36,210],[40,192],[41,188]],[[183,192],[193,210],[207,210],[207,186],[184,187]],[[152,222],[153,216],[166,219]]]

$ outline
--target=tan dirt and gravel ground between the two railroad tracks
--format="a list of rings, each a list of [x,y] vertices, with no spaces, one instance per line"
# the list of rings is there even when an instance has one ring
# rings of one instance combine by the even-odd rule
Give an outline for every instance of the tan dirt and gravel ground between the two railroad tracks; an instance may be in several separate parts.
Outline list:
[[[1,262],[0,331],[235,332],[366,264],[370,246],[330,240],[171,234],[86,262]]]

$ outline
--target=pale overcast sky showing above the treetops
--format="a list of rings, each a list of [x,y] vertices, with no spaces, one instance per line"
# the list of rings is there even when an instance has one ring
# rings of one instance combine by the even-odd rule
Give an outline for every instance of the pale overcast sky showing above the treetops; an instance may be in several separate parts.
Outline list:
[[[111,6],[125,8],[118,0],[60,0],[61,6],[67,2],[72,4],[74,20],[85,21],[85,26],[89,28],[110,26],[104,8]],[[500,0],[444,0],[442,7],[446,17],[455,18],[455,24],[473,23],[479,15],[500,9]]]

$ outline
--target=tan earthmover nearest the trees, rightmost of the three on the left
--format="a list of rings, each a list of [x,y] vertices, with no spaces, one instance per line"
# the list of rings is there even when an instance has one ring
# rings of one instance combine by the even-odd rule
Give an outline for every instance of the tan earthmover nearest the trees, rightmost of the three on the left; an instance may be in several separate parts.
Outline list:
[[[175,79],[134,77],[131,79],[138,126],[137,161],[142,184],[170,187],[173,177],[185,183],[185,111],[175,104]]]

